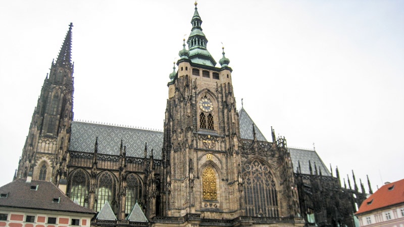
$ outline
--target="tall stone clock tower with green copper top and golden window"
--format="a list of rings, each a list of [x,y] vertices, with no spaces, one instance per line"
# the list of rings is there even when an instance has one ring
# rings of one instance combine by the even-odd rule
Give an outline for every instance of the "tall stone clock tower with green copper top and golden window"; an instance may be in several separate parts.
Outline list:
[[[216,67],[196,6],[168,83],[161,215],[233,219],[243,196],[232,69],[224,50]]]

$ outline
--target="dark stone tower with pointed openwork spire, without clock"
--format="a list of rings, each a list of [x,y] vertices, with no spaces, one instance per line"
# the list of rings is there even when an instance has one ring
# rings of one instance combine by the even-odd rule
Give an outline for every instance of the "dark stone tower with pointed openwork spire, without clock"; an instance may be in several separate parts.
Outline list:
[[[66,155],[73,120],[72,27],[43,82],[32,115],[16,178],[32,174],[33,180],[66,179]]]

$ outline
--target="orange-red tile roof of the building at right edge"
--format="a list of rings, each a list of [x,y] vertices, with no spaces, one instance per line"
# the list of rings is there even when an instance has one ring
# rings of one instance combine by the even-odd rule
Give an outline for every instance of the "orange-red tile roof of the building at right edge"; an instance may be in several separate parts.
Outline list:
[[[356,214],[404,203],[404,179],[383,185],[369,198],[363,201]]]

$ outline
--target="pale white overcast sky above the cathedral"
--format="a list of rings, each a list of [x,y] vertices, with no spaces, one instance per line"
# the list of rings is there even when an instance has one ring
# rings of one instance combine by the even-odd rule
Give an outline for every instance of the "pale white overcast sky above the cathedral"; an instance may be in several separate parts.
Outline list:
[[[191,0],[1,1],[0,185],[13,178],[70,22],[74,119],[162,129],[193,8]],[[374,191],[404,178],[404,1],[200,0],[198,12],[217,62],[224,43],[237,108],[243,98],[268,140],[273,126],[289,147],[314,142],[341,178],[354,169],[359,184],[368,174]]]

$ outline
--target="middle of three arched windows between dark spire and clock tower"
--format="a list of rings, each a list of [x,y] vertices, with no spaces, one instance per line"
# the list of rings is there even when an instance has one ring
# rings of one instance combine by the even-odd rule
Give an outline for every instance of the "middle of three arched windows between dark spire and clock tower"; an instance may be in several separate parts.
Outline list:
[[[95,211],[99,211],[108,201],[112,204],[115,194],[115,181],[112,179],[111,174],[104,172],[98,177],[98,190],[97,190],[97,203]]]

